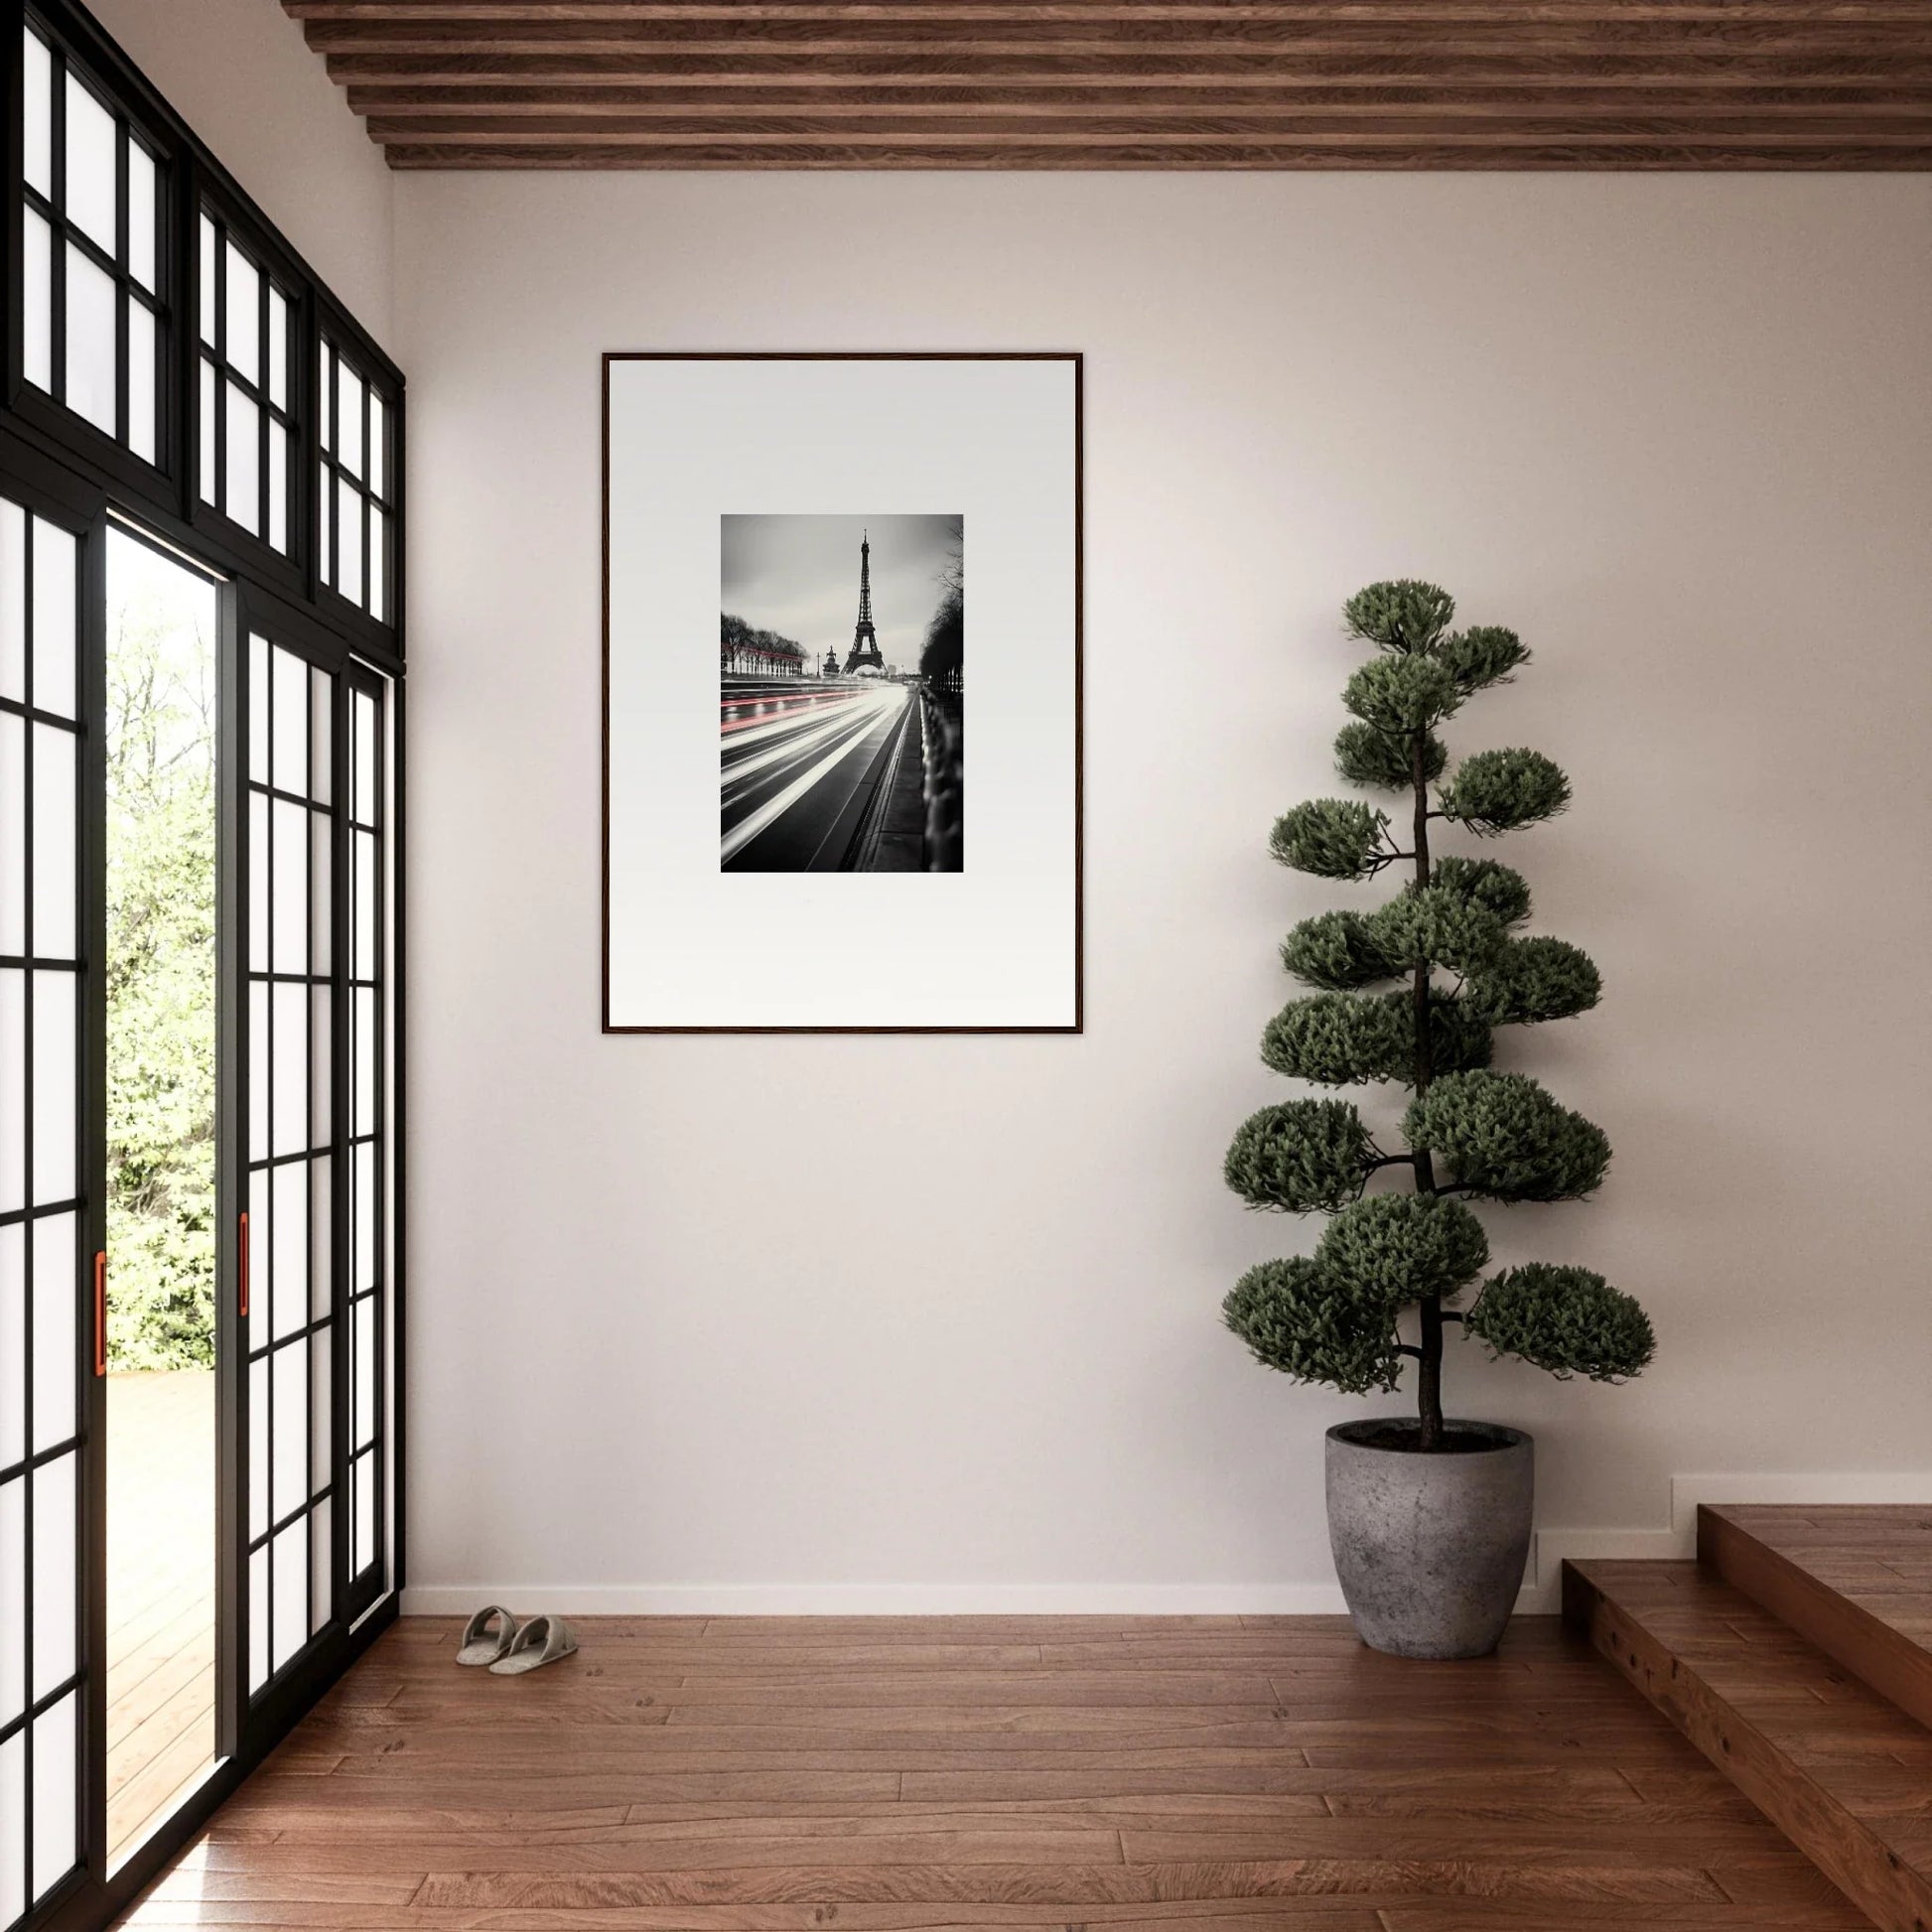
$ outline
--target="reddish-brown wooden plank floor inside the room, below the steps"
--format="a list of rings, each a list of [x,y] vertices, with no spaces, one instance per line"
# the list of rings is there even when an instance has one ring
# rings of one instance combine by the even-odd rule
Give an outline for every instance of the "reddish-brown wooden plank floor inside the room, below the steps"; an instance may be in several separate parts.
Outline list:
[[[406,1619],[126,1920],[1675,1932],[1864,1920],[1555,1619]]]

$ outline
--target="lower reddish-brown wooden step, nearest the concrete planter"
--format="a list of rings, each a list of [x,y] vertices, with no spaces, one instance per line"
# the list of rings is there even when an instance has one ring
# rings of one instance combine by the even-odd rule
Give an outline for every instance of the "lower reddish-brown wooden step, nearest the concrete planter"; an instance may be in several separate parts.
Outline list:
[[[1563,1613],[1884,1932],[1932,1932],[1932,1733],[1696,1563],[1565,1563]]]

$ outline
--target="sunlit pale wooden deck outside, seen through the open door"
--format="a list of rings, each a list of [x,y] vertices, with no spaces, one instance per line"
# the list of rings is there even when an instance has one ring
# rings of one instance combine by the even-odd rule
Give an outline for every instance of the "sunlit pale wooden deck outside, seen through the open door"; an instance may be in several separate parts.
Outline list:
[[[108,1381],[108,1857],[214,1762],[214,1374]]]

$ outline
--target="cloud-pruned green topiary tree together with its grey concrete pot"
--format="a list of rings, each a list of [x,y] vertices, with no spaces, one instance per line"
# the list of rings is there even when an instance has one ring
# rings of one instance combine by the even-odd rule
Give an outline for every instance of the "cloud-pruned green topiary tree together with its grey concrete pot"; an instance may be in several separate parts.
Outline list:
[[[1519,873],[1430,852],[1434,825],[1492,837],[1571,796],[1563,773],[1524,750],[1474,752],[1443,777],[1437,726],[1530,655],[1515,632],[1453,632],[1453,616],[1445,591],[1406,580],[1345,607],[1350,636],[1378,655],[1343,692],[1352,723],[1335,765],[1352,784],[1405,794],[1408,848],[1385,811],[1343,798],[1296,806],[1271,838],[1283,866],[1321,879],[1414,869],[1387,904],[1321,912],[1289,933],[1283,964],[1316,991],[1262,1037],[1262,1059],[1294,1080],[1408,1088],[1406,1146],[1383,1151],[1350,1101],[1291,1099],[1242,1124],[1225,1169],[1250,1208],[1331,1215],[1312,1256],[1264,1262],[1227,1296],[1227,1325],[1256,1358],[1349,1395],[1395,1389],[1403,1362],[1416,1364],[1414,1420],[1327,1432],[1329,1542],[1349,1611],[1364,1642],[1414,1658],[1493,1650],[1530,1542],[1532,1441],[1445,1420],[1445,1331],[1559,1378],[1619,1381],[1652,1354],[1642,1308],[1586,1267],[1530,1262],[1482,1279],[1490,1242],[1468,1204],[1580,1200],[1602,1182],[1609,1142],[1538,1082],[1490,1065],[1497,1026],[1586,1012],[1598,972],[1561,939],[1517,935],[1530,914]],[[1405,1192],[1368,1192],[1395,1171]]]

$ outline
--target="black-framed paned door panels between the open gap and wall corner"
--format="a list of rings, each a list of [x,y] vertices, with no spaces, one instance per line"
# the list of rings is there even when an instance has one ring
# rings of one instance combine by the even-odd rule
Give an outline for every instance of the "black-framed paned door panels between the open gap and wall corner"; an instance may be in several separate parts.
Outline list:
[[[249,1714],[388,1582],[383,680],[243,616],[234,823],[230,1592]]]

